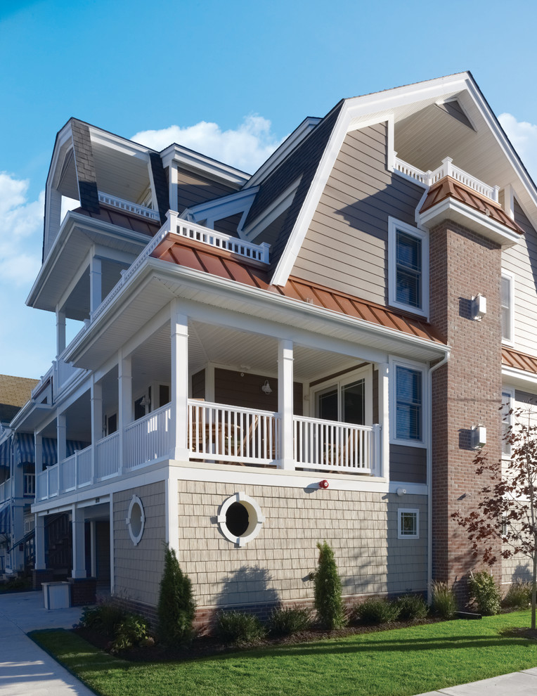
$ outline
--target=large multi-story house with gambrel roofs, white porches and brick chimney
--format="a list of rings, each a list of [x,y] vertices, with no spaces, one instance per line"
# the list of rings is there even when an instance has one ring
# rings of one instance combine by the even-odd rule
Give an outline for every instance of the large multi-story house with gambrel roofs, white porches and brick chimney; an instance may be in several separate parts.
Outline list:
[[[348,601],[462,592],[450,513],[475,448],[502,455],[502,399],[537,393],[536,226],[466,72],[340,101],[253,176],[69,120],[27,299],[57,356],[11,423],[34,433],[36,582],[64,513],[73,586],[147,614],[164,541],[200,622],[311,602],[323,539]]]

